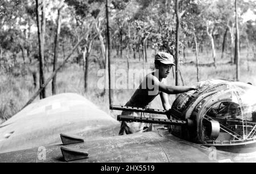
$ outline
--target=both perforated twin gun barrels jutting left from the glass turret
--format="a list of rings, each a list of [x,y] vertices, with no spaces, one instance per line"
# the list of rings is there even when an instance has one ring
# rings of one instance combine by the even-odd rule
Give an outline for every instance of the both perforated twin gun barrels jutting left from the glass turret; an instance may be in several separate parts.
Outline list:
[[[170,114],[170,112],[167,110],[118,106],[118,105],[110,105],[110,109],[118,110],[118,111]],[[131,121],[131,122],[145,122],[145,123],[152,123],[152,124],[164,124],[164,125],[180,125],[180,126],[189,126],[189,127],[194,125],[194,122],[190,119],[182,121],[182,120],[168,120],[168,119],[160,119],[160,118],[131,117],[131,116],[118,115],[117,120],[118,121]]]

